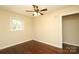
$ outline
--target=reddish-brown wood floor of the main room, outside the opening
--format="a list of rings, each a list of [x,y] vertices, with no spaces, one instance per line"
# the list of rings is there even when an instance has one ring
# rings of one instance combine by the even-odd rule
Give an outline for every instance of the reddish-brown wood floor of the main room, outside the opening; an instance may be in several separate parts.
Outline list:
[[[8,47],[0,51],[0,54],[61,54],[62,49],[37,42],[34,40]]]

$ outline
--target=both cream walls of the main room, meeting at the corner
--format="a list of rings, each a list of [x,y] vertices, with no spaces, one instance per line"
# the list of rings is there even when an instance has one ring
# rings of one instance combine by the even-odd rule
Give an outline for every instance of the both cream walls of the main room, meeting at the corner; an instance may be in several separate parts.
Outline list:
[[[0,48],[31,39],[62,48],[62,16],[77,12],[79,13],[78,6],[68,7],[32,19],[0,9]],[[19,17],[24,21],[23,31],[10,31],[9,17],[11,16]]]

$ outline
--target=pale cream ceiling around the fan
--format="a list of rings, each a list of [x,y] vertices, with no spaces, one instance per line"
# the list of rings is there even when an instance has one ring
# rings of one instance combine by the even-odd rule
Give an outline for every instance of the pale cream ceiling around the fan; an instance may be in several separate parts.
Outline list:
[[[47,8],[48,11],[44,11],[44,14],[51,13],[55,10],[68,7],[68,5],[38,5],[39,9]],[[33,12],[26,12],[25,10],[33,10],[32,5],[0,5],[0,8],[6,9],[12,12],[16,12],[26,16],[32,16]]]

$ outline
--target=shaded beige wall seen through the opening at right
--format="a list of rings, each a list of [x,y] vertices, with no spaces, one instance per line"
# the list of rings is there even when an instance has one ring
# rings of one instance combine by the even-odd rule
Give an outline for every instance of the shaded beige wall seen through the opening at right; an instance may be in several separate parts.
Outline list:
[[[63,42],[79,46],[79,14],[63,17]]]

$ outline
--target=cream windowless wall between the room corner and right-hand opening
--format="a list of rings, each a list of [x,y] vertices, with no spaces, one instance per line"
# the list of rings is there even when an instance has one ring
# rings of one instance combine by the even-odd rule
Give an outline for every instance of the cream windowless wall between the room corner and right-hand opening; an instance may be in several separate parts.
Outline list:
[[[73,6],[35,17],[34,39],[62,48],[62,16],[77,12],[79,13],[79,7]]]

